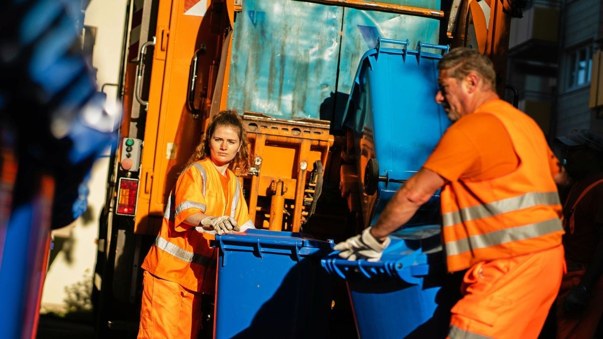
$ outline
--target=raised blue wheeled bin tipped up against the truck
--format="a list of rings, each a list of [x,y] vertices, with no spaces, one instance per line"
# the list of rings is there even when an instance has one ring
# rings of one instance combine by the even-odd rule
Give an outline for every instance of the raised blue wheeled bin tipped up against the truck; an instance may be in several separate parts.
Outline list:
[[[414,48],[414,49],[413,49]],[[420,170],[450,119],[435,102],[437,64],[447,46],[379,38],[365,52],[347,101],[344,125],[354,136],[356,172],[365,226],[373,224],[401,182]],[[376,192],[365,191],[367,163],[377,160]],[[423,204],[406,226],[436,223],[439,192]]]

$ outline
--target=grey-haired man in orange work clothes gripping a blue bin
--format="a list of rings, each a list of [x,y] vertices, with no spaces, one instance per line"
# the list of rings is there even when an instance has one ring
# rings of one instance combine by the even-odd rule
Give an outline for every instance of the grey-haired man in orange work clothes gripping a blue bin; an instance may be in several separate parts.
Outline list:
[[[538,125],[499,99],[485,55],[454,48],[438,69],[435,101],[455,122],[376,223],[335,250],[378,261],[388,235],[442,188],[447,269],[467,269],[448,337],[537,338],[564,271],[555,184],[565,174]]]

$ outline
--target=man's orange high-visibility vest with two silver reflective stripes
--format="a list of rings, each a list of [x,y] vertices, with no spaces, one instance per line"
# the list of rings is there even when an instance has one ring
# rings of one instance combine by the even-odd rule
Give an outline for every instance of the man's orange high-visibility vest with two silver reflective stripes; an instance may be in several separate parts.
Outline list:
[[[549,168],[549,147],[529,116],[502,100],[475,112],[490,113],[507,129],[519,166],[496,179],[458,179],[441,192],[442,236],[448,271],[561,244],[561,204]]]

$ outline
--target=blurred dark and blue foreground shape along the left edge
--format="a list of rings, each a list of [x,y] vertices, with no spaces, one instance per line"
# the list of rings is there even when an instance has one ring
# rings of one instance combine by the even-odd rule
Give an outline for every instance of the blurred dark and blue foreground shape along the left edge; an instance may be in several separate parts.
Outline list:
[[[1,338],[36,337],[50,230],[85,211],[90,167],[119,123],[68,4],[0,4]]]

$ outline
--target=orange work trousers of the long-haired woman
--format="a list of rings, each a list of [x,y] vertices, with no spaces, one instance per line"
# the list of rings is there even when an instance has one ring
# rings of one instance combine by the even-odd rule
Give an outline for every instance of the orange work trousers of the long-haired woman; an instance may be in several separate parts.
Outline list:
[[[201,293],[143,273],[138,339],[197,339]]]

